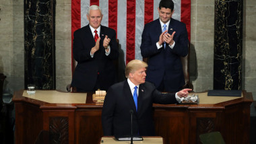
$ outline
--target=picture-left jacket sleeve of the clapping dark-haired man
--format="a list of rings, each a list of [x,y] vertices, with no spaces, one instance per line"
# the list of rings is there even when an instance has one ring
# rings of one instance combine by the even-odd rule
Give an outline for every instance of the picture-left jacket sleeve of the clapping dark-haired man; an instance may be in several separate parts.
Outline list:
[[[143,58],[150,57],[159,52],[156,42],[158,42],[160,35],[156,36],[156,34],[154,34],[154,36],[152,36],[152,31],[154,30],[151,30],[151,28],[152,26],[146,24],[141,35],[140,49]]]

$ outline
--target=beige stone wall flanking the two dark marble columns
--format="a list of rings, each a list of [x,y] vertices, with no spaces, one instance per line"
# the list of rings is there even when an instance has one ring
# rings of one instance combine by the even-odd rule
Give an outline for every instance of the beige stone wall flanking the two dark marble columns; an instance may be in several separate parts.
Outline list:
[[[0,1],[0,73],[13,91],[24,88],[24,1]],[[244,1],[242,89],[256,100],[256,1]],[[71,82],[71,0],[56,5],[56,89]],[[195,92],[213,89],[214,0],[191,0],[190,77]]]

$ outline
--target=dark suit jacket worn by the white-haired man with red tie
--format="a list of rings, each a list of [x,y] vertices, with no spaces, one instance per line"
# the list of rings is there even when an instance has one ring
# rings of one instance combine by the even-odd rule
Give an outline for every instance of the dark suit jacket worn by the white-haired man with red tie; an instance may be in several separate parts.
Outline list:
[[[90,56],[90,50],[96,42],[90,30],[90,26],[84,26],[74,32],[73,58],[77,61],[77,66],[73,73],[71,85],[84,89],[84,91],[94,91],[96,84],[102,90],[108,89],[117,80],[117,73],[114,59],[118,59],[119,51],[116,41],[116,32],[106,26],[100,26],[100,48]],[[105,36],[110,38],[110,55],[105,55],[103,40]],[[96,83],[98,82],[98,83]]]

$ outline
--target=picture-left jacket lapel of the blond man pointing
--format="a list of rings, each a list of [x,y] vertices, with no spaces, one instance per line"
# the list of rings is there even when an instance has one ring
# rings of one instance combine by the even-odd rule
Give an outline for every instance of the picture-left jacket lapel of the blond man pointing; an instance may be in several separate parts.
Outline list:
[[[125,97],[127,98],[128,102],[129,102],[129,105],[131,106],[131,109],[133,110],[133,112],[135,114],[137,114],[136,112],[136,106],[135,106],[135,103],[134,103],[134,100],[133,100],[133,96],[131,94],[131,89],[129,87],[129,84],[128,84],[128,81],[125,80],[125,83],[123,85],[123,89],[124,89],[124,95]]]

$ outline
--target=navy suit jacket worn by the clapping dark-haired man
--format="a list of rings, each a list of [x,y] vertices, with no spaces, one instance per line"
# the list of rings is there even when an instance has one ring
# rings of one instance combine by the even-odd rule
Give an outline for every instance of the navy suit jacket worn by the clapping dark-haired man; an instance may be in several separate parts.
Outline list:
[[[170,30],[172,28],[172,30]],[[183,65],[181,57],[188,54],[189,40],[185,24],[174,19],[170,19],[168,33],[174,34],[175,45],[171,49],[168,44],[160,49],[156,42],[162,34],[160,20],[154,20],[145,25],[141,39],[141,55],[148,57],[148,69],[146,81],[150,81],[158,87],[164,79],[164,87],[167,92],[177,92],[179,87],[185,84],[183,75]]]

